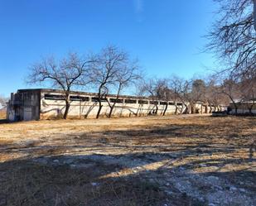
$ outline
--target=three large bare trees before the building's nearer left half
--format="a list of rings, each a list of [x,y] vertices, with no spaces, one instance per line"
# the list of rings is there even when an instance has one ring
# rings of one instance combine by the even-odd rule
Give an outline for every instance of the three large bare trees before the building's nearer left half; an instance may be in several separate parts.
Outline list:
[[[123,89],[135,84],[141,78],[140,73],[137,60],[131,60],[127,52],[116,46],[108,46],[99,54],[86,57],[70,53],[59,61],[53,57],[41,60],[31,66],[27,82],[48,82],[52,87],[61,89],[65,98],[65,119],[70,109],[71,89],[92,89],[98,94],[99,110],[96,117],[99,118],[104,101],[109,104],[111,117]],[[110,91],[116,94],[115,103],[110,103],[106,98]]]

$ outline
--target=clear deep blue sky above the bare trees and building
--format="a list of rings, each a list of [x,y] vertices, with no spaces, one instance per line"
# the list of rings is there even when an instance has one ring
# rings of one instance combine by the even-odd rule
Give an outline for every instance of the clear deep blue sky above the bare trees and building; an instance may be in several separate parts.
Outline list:
[[[212,0],[0,0],[0,93],[28,88],[27,68],[47,55],[114,44],[149,76],[191,78],[213,66],[200,53]]]

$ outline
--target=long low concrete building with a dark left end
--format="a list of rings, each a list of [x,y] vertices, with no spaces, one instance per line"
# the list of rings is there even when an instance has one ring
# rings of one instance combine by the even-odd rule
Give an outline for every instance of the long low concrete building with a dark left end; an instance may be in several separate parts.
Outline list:
[[[113,117],[137,117],[161,115],[166,106],[166,114],[184,113],[183,103],[153,100],[146,97],[108,95],[109,103],[116,103]],[[99,109],[97,93],[71,92],[70,118],[94,118]],[[109,104],[103,99],[100,116],[107,117]],[[197,113],[209,113],[211,109],[202,103],[196,104]],[[11,93],[7,103],[7,119],[9,121],[30,121],[62,117],[65,112],[63,92],[56,89],[19,89]]]

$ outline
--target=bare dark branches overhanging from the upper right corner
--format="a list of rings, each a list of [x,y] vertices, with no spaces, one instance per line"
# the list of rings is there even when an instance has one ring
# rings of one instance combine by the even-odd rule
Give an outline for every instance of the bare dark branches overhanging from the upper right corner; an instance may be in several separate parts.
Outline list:
[[[215,0],[220,3],[220,18],[210,31],[208,49],[224,60],[232,79],[244,75],[255,76],[256,36],[254,30],[253,0]],[[255,13],[254,13],[255,14]]]

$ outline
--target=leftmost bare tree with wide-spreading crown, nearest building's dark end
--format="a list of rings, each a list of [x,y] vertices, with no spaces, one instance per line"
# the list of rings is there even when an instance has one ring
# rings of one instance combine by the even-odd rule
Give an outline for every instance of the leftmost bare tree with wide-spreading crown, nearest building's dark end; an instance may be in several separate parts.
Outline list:
[[[70,89],[81,84],[80,78],[88,76],[89,60],[82,60],[76,53],[70,53],[62,60],[49,57],[31,66],[27,83],[38,84],[50,83],[54,88],[61,89],[65,99],[65,113],[63,118],[68,117],[70,109]],[[85,83],[85,78],[84,78]]]

